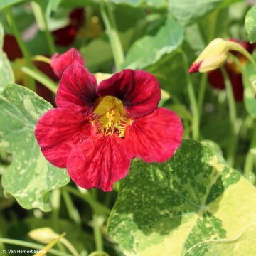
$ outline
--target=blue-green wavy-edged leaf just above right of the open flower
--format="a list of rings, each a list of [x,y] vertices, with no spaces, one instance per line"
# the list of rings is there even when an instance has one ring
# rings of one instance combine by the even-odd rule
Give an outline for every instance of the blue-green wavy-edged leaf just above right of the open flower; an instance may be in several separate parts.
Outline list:
[[[142,69],[156,63],[164,55],[174,53],[183,41],[183,27],[168,16],[155,36],[135,41],[127,53],[124,68]]]

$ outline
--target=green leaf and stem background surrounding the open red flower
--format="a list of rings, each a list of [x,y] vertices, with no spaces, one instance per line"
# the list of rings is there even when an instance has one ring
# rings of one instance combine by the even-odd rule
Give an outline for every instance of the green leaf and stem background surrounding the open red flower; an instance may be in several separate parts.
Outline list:
[[[188,75],[193,60],[213,38],[255,41],[255,9],[247,14],[253,4],[1,0],[0,49],[4,34],[17,40],[23,36],[26,60],[21,65],[10,62],[1,50],[0,254],[31,247],[35,241],[28,232],[50,227],[65,232],[78,255],[96,250],[113,256],[255,255],[250,247],[256,234],[256,100],[250,87],[255,70],[250,63],[242,70],[245,95],[243,102],[235,103],[235,120],[229,118],[225,90],[213,90],[207,74]],[[85,10],[85,23],[73,43],[59,46],[51,32],[65,27],[76,8]],[[166,164],[135,160],[111,193],[77,188],[65,169],[43,158],[33,135],[38,118],[53,107],[31,91],[33,79],[52,91],[57,82],[34,68],[31,60],[72,46],[92,73],[133,68],[154,74],[162,88],[160,105],[183,121],[183,144],[174,158]],[[17,70],[26,78],[23,87],[14,85]],[[40,236],[37,242],[45,246]],[[62,243],[55,250],[75,255]]]

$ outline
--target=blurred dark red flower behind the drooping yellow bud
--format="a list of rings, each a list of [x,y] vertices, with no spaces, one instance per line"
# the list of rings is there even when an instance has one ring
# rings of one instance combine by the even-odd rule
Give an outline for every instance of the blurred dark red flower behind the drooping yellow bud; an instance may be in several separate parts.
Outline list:
[[[252,51],[255,48],[255,45],[251,44],[249,42],[238,41],[233,38],[230,39],[230,41],[235,41],[237,43],[240,43],[241,46],[243,46],[249,53],[252,53]],[[241,53],[237,53],[237,52],[232,52],[232,53],[233,53],[233,55],[235,55],[238,58],[238,60],[240,60],[240,63],[242,66],[244,66],[247,63],[247,58],[244,55],[242,55]],[[242,102],[244,87],[243,87],[243,83],[242,83],[241,70],[238,68],[237,65],[235,65],[233,60],[230,58],[225,62],[224,68],[228,73],[228,77],[230,78],[230,82],[233,87],[233,94],[234,94],[235,100],[237,102]],[[225,81],[224,81],[224,78],[223,78],[223,75],[222,75],[220,69],[210,71],[208,73],[208,80],[210,82],[210,85],[212,85],[216,89],[219,89],[219,90],[225,89]]]

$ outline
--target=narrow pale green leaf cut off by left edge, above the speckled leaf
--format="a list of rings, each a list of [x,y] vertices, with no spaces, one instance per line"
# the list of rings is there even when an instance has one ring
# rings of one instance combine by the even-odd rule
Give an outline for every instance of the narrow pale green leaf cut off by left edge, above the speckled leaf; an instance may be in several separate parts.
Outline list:
[[[14,74],[11,69],[6,53],[2,50],[4,45],[4,28],[0,23],[0,92],[9,83],[14,82]]]

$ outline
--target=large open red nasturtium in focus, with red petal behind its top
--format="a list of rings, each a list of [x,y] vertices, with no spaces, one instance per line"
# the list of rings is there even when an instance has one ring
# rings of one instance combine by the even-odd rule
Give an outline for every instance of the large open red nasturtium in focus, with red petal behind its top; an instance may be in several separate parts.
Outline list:
[[[130,161],[171,158],[181,144],[181,120],[157,107],[159,83],[142,70],[122,70],[100,85],[74,50],[55,57],[55,70],[65,71],[56,95],[57,108],[48,110],[36,125],[43,155],[83,188],[111,191],[124,178]],[[73,56],[73,64],[64,65]],[[66,58],[66,60],[65,60]],[[60,62],[58,62],[60,60]],[[82,60],[82,61],[81,61]]]

